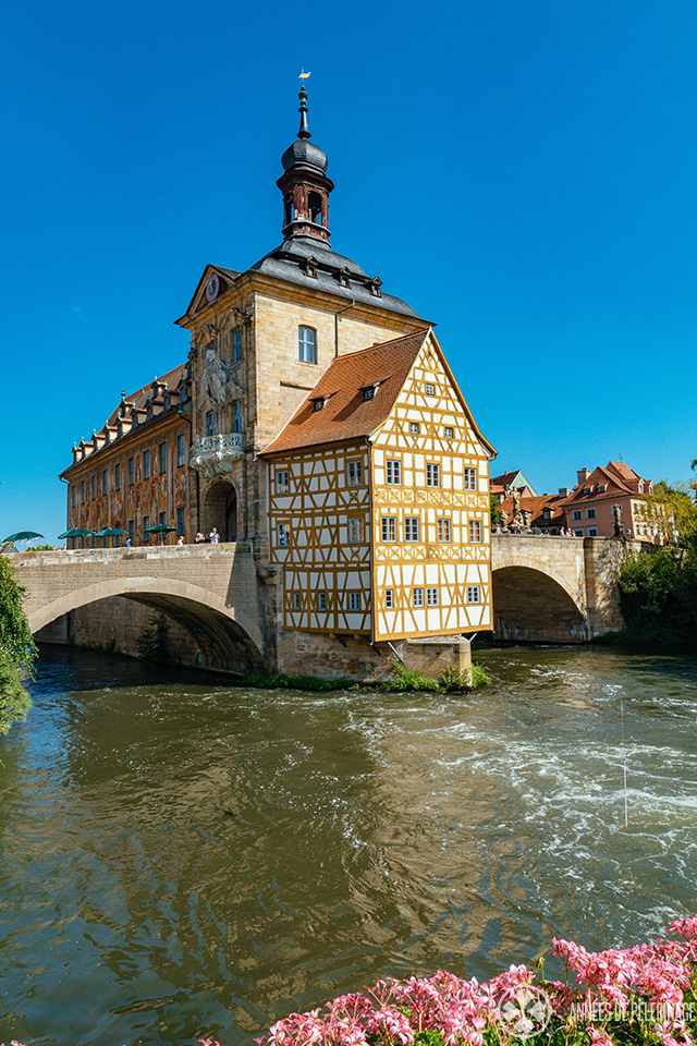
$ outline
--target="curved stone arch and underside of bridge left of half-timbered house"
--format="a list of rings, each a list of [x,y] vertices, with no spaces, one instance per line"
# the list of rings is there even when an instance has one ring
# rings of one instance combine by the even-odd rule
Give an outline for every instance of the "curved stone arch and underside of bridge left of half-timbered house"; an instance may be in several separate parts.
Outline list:
[[[233,674],[264,668],[264,636],[248,613],[228,606],[207,588],[172,577],[112,579],[75,588],[29,612],[29,628],[38,632],[71,610],[110,596],[124,596],[168,615],[193,635],[208,668]]]

